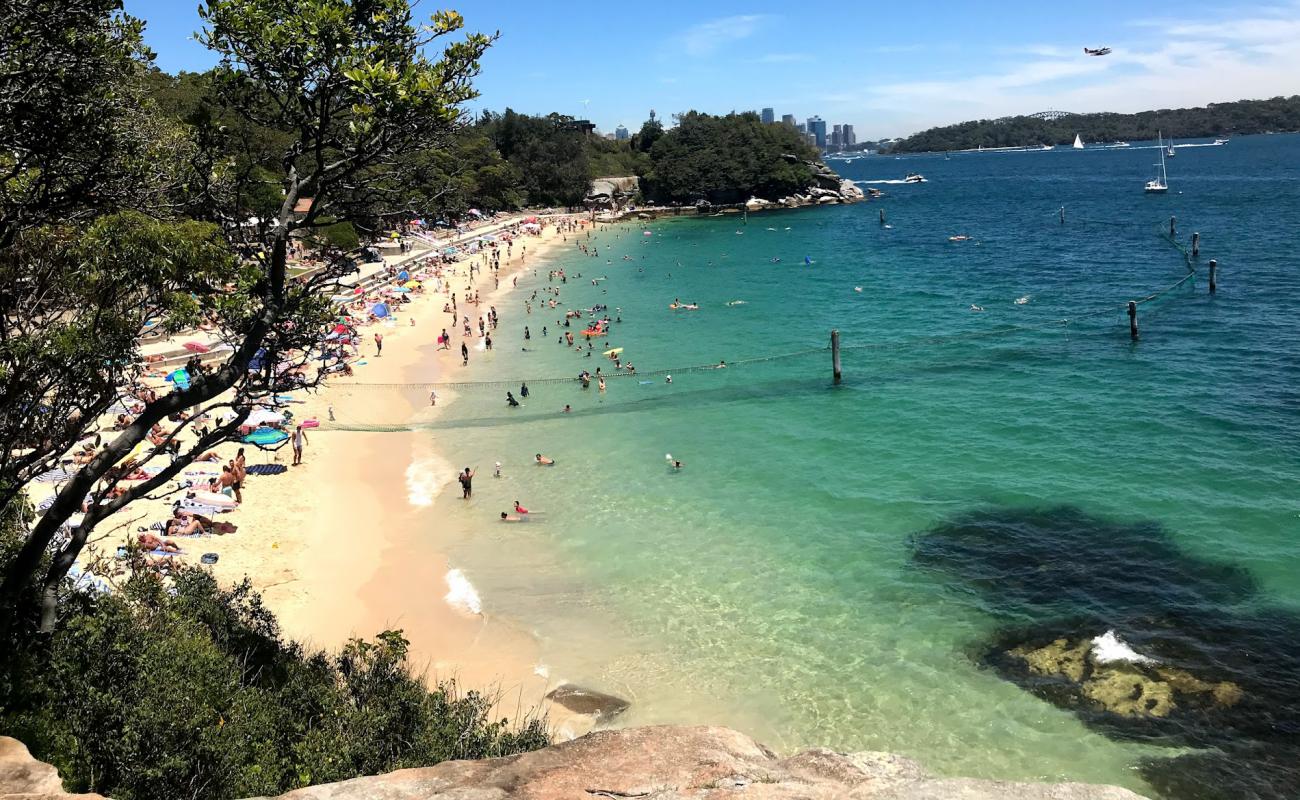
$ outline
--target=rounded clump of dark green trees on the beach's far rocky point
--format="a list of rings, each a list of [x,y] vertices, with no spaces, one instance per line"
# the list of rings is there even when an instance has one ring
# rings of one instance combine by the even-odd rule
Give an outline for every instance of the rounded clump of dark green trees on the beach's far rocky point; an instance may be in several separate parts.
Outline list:
[[[738,203],[777,199],[807,187],[803,160],[818,153],[788,125],[763,125],[755,113],[681,114],[650,151],[647,196],[656,203]]]

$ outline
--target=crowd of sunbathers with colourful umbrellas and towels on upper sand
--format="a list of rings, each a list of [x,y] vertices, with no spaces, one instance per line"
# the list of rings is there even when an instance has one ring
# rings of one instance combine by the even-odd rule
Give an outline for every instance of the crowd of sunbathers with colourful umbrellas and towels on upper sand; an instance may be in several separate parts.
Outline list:
[[[382,248],[395,251],[394,255],[364,265],[359,277],[332,287],[335,290],[337,321],[329,330],[321,332],[315,349],[283,354],[278,364],[270,366],[278,375],[277,392],[283,393],[248,408],[238,441],[221,444],[202,454],[159,497],[138,500],[101,523],[98,539],[92,540],[92,546],[73,568],[73,578],[99,591],[113,591],[117,579],[127,571],[127,561],[164,574],[186,561],[216,563],[220,554],[205,552],[213,548],[205,548],[204,540],[239,532],[243,524],[240,516],[244,516],[240,510],[246,502],[276,502],[263,494],[260,487],[250,492],[250,475],[281,475],[304,463],[311,451],[313,429],[333,419],[329,399],[332,384],[355,380],[358,369],[368,364],[369,358],[382,358],[386,333],[391,336],[402,328],[415,328],[416,308],[421,303],[441,302],[451,325],[441,327],[436,337],[420,330],[415,338],[421,340],[417,343],[429,343],[428,338],[436,338],[439,349],[451,349],[454,337],[459,334],[462,363],[468,364],[471,345],[478,345],[474,340],[485,340],[485,346],[490,349],[491,332],[500,319],[495,307],[480,307],[480,286],[489,280],[493,287],[500,286],[508,267],[524,264],[530,241],[543,234],[560,238],[588,225],[588,220],[576,216],[498,215],[477,219],[450,235],[434,235],[420,225],[394,232],[382,243]],[[294,265],[298,269],[309,271],[318,263],[317,254],[306,247],[296,250]],[[534,245],[534,252],[537,250]],[[147,403],[160,394],[202,380],[211,364],[220,363],[230,353],[230,346],[216,338],[208,325],[170,337],[161,336],[159,329],[159,325],[151,325],[142,334],[144,366],[139,377],[121,386],[118,402],[100,420],[98,432],[90,433],[68,453],[57,468],[40,476],[38,483],[49,487],[51,492],[44,497],[30,497],[38,513],[47,510],[61,484],[107,446],[114,431],[130,425]],[[259,354],[251,368],[266,372],[268,366],[259,363],[261,358]],[[318,375],[322,369],[329,375]],[[191,419],[191,411],[199,418]],[[110,477],[120,479],[117,493],[125,492],[122,484],[157,475],[165,459],[183,451],[182,433],[198,440],[214,424],[234,421],[233,410],[226,410],[224,419],[211,419],[200,410],[191,411],[173,415],[169,419],[172,427],[155,425],[147,438],[113,468]],[[183,431],[178,432],[177,428],[182,427]],[[285,447],[292,453],[289,466],[281,463]],[[265,463],[251,464],[251,457]],[[86,502],[91,502],[90,496]],[[78,519],[69,520],[62,532],[65,536],[70,535]],[[291,524],[290,520],[282,522]],[[133,559],[135,555],[138,558]]]

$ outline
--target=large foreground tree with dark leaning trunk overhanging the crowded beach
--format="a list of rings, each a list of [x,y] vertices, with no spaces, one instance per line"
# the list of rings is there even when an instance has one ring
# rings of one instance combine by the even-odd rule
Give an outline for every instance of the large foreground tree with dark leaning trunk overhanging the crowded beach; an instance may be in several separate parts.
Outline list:
[[[27,1],[40,5],[39,0]],[[96,23],[108,26],[117,18],[114,4],[104,0],[99,5],[108,8],[99,9]],[[254,403],[286,388],[282,373],[300,372],[308,385],[320,380],[324,369],[316,375],[306,371],[309,364],[321,363],[320,338],[332,311],[324,290],[337,284],[351,263],[339,251],[328,252],[325,269],[304,281],[291,281],[287,269],[290,239],[328,225],[367,226],[386,215],[416,211],[412,190],[403,182],[399,168],[412,153],[446,146],[460,122],[460,104],[474,96],[472,79],[478,72],[478,59],[493,40],[481,34],[451,39],[463,27],[455,12],[438,12],[429,25],[415,26],[407,0],[207,0],[200,14],[205,23],[200,40],[221,55],[212,82],[222,107],[250,127],[280,131],[285,146],[274,159],[231,163],[229,130],[222,131],[209,120],[205,126],[190,131],[195,151],[187,159],[190,170],[181,189],[191,202],[190,211],[220,229],[220,242],[212,238],[212,228],[183,228],[186,238],[174,242],[170,255],[131,287],[127,295],[134,300],[110,321],[113,329],[125,336],[129,323],[144,312],[161,313],[166,320],[173,319],[173,312],[183,312],[176,324],[183,323],[185,315],[188,319],[203,316],[229,350],[209,368],[191,375],[187,389],[177,386],[169,394],[148,398],[134,420],[112,432],[103,449],[72,475],[55,496],[53,505],[31,526],[22,548],[6,565],[0,585],[3,601],[9,602],[22,592],[68,519],[79,509],[87,509],[81,524],[65,532],[66,541],[55,544],[53,559],[44,571],[44,630],[51,630],[56,622],[62,578],[100,522],[140,497],[165,490],[194,458],[234,437]],[[56,20],[38,33],[58,38],[62,33],[56,30],[57,25]],[[117,27],[138,34],[138,25]],[[442,47],[437,60],[424,55],[425,48],[433,46]],[[8,52],[6,48],[12,46],[0,46],[0,52]],[[130,85],[126,75],[138,74],[140,60],[126,47],[113,52],[118,53],[117,59],[135,65],[135,72],[121,66],[113,73],[121,75],[124,86]],[[68,57],[79,56],[70,52]],[[52,103],[44,113],[64,112]],[[114,118],[125,116],[124,112]],[[64,121],[60,118],[55,124]],[[68,153],[55,156],[72,157]],[[61,164],[57,157],[47,161],[57,167]],[[248,224],[247,209],[257,198],[265,199],[270,177],[281,193],[278,207]],[[306,211],[295,211],[299,202]],[[81,198],[79,204],[65,203],[86,208],[87,215],[96,211],[90,198]],[[20,219],[27,206],[40,211],[52,204],[46,195],[14,202]],[[103,230],[103,241],[112,245],[108,251],[112,260],[105,256],[101,264],[105,285],[129,271],[131,258],[152,248],[153,238],[168,241],[168,235],[174,235],[130,215],[114,220],[105,222]],[[72,233],[74,235],[75,229]],[[221,243],[229,250],[205,248],[202,243]],[[240,258],[230,258],[230,250]],[[30,246],[6,247],[3,261],[12,274],[22,274],[36,252]],[[195,289],[187,269],[196,271],[196,291],[187,291]],[[3,308],[6,376],[32,368],[29,354],[40,349],[31,345],[35,336],[31,330],[39,329],[42,323],[75,312],[81,321],[68,337],[55,342],[57,346],[64,346],[65,341],[86,341],[99,324],[95,310],[68,304],[77,295],[66,290],[51,302],[46,302],[39,286],[32,286],[23,298],[3,297],[6,299]],[[40,298],[42,303],[31,304],[31,297]],[[190,297],[191,304],[182,303],[183,297]],[[18,317],[27,320],[26,328],[13,327]],[[86,353],[86,349],[77,353]],[[118,377],[130,382],[143,373],[138,351],[131,350],[130,355],[130,363],[114,366],[121,373],[100,376],[96,385],[104,390],[79,401],[81,412],[75,420],[69,420],[68,429],[82,434],[98,431],[100,415],[118,398],[107,390],[108,384]],[[282,372],[285,368],[287,372]],[[17,414],[25,420],[38,419],[46,414],[43,399],[75,390],[77,386],[56,381],[35,402],[26,395]],[[195,420],[226,410],[230,414],[222,421],[195,433],[194,444],[181,447],[181,434],[191,433]],[[157,442],[152,454],[129,458],[156,423],[188,411],[196,414]],[[14,429],[22,427],[22,420],[18,421]],[[4,442],[10,444],[14,442]],[[62,442],[26,444],[39,453],[38,462],[44,459],[40,463],[49,463],[64,451]],[[121,484],[124,460],[138,467],[155,459],[170,460],[148,480],[129,488]],[[0,483],[22,489],[35,476],[29,458],[22,470],[0,473]]]

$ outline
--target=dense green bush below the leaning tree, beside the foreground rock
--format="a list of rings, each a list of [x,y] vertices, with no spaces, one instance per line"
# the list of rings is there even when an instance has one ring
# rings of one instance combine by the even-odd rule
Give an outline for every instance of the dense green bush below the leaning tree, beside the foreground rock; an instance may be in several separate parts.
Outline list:
[[[52,635],[35,632],[30,600],[0,641],[0,732],[74,791],[277,795],[550,743],[541,719],[495,719],[490,696],[426,688],[400,632],[307,652],[247,583],[222,589],[203,570],[66,593]]]

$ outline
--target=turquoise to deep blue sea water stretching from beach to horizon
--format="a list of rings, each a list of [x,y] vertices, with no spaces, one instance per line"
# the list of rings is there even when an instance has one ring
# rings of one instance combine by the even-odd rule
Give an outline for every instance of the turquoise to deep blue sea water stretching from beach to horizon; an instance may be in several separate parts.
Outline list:
[[[1297,796],[1300,135],[1176,152],[1167,195],[1143,143],[835,161],[884,196],[554,251],[472,354],[503,382],[426,428],[480,475],[437,501],[430,549],[537,633],[540,669],[629,699],[623,723]],[[1134,342],[1124,304],[1150,295]],[[558,338],[597,303],[621,323],[586,358]],[[638,375],[547,380],[612,372],[607,347]],[[497,523],[515,500],[529,522]],[[1244,700],[1131,726],[997,666],[1000,643],[1108,630]]]

